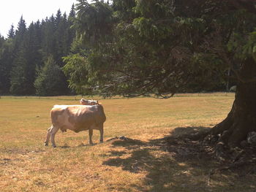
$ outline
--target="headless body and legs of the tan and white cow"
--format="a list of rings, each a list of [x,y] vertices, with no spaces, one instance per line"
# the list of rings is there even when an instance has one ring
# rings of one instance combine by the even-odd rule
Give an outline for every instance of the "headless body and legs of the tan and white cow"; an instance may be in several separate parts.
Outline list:
[[[50,111],[52,126],[48,128],[45,146],[49,139],[53,147],[56,147],[54,137],[56,132],[70,129],[76,133],[89,130],[89,143],[92,144],[93,129],[100,132],[99,142],[103,142],[103,123],[106,116],[101,104],[95,105],[54,105]]]

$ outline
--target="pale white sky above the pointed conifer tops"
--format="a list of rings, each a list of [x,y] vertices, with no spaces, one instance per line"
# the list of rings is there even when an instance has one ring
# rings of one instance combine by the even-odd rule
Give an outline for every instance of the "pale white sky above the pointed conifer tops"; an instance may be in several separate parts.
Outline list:
[[[0,0],[0,34],[7,37],[11,25],[18,26],[21,15],[28,27],[32,21],[45,19],[61,13],[69,15],[70,9],[76,0]]]

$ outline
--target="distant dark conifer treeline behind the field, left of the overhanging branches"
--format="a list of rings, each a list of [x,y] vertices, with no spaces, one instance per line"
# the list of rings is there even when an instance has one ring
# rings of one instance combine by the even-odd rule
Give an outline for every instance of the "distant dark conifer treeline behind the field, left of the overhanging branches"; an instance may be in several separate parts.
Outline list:
[[[21,16],[7,38],[0,35],[0,94],[54,96],[70,93],[61,68],[69,54],[75,29],[75,6],[69,15],[56,15],[26,25]]]

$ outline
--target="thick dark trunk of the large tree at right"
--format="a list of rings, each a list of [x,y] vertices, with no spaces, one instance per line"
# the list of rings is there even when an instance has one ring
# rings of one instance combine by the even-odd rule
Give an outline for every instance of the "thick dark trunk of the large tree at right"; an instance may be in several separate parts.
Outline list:
[[[256,64],[247,59],[241,67],[236,97],[227,118],[211,129],[211,134],[220,134],[219,142],[229,147],[239,146],[250,131],[256,131]]]

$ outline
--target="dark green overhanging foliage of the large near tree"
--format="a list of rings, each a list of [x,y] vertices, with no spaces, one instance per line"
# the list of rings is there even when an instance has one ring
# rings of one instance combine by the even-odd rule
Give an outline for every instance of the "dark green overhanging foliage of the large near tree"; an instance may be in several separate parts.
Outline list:
[[[227,82],[240,78],[236,70],[244,58],[255,54],[255,3],[240,3],[114,0],[109,5],[80,0],[74,27],[89,47],[83,62],[85,86],[107,95],[154,93],[164,98],[223,91]],[[233,80],[227,77],[230,69]],[[72,85],[80,85],[76,80]]]

